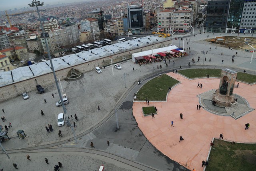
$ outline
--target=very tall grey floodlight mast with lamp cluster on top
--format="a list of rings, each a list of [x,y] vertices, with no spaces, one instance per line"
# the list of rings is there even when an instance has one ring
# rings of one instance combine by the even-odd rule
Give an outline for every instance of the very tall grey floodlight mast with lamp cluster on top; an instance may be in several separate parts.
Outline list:
[[[64,112],[64,114],[66,114],[66,113],[67,113],[66,107],[65,107],[65,104],[64,104],[64,102],[63,102],[63,100],[62,100],[62,95],[61,95],[61,93],[60,93],[60,87],[59,87],[59,85],[58,85],[57,77],[56,77],[56,74],[55,74],[55,71],[54,71],[54,67],[53,67],[53,64],[52,64],[52,58],[51,58],[51,54],[50,54],[50,49],[49,49],[48,43],[47,43],[47,41],[46,41],[46,36],[45,36],[45,32],[44,32],[44,27],[43,27],[42,21],[41,21],[41,19],[40,19],[40,14],[39,14],[39,10],[38,10],[38,6],[43,6],[43,5],[44,5],[44,2],[41,2],[41,3],[40,3],[39,0],[38,0],[38,1],[32,0],[31,4],[28,4],[28,5],[29,5],[30,7],[36,7],[36,11],[37,11],[37,14],[38,14],[40,26],[41,26],[41,29],[42,29],[42,32],[43,32],[43,36],[44,36],[44,43],[45,43],[45,45],[46,45],[46,49],[47,49],[47,53],[48,53],[48,58],[49,58],[49,60],[50,60],[50,64],[51,64],[51,68],[52,68],[52,73],[53,73],[54,81],[55,81],[55,83],[56,83],[56,87],[57,87],[58,94],[59,94],[59,97],[60,97],[60,101],[61,101],[61,104],[62,104],[63,112]],[[72,124],[71,124],[71,128],[72,128],[72,132],[73,132],[73,134],[74,134],[74,128],[73,128]],[[75,136],[75,134],[74,134],[74,139],[75,139],[75,141],[76,141],[76,136]],[[77,143],[77,142],[76,142],[76,143]]]

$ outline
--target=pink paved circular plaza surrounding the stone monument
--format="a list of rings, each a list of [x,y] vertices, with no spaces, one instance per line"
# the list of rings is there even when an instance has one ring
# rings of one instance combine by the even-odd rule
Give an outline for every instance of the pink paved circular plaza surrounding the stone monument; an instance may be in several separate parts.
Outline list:
[[[168,73],[170,77],[180,81],[172,88],[167,96],[167,102],[150,102],[149,106],[156,106],[158,114],[143,116],[142,107],[148,106],[146,102],[134,102],[133,115],[138,122],[140,130],[158,150],[177,161],[202,171],[202,160],[207,159],[212,138],[218,138],[221,133],[223,140],[235,142],[255,142],[256,136],[256,111],[252,111],[235,120],[231,116],[218,116],[203,108],[196,110],[199,104],[198,94],[216,89],[220,79],[205,78],[189,80],[175,73]],[[203,88],[196,88],[199,83]],[[239,83],[239,88],[234,93],[244,97],[250,107],[256,108],[256,85]],[[180,113],[183,119],[180,119]],[[171,121],[174,127],[171,127]],[[245,124],[250,123],[250,128],[245,130]],[[179,143],[180,136],[184,138]]]

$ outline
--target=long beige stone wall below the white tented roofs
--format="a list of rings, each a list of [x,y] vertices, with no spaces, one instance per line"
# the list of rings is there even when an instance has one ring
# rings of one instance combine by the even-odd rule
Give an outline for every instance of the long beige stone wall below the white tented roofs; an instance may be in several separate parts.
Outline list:
[[[168,44],[170,44],[170,40],[162,41],[159,43],[151,44],[148,46],[140,47],[140,48],[122,52],[122,53],[117,53],[115,55],[102,57],[102,58],[96,59],[94,61],[88,61],[86,63],[73,65],[68,68],[55,71],[56,77],[57,78],[60,77],[60,80],[63,80],[67,77],[67,74],[71,68],[77,69],[78,71],[80,71],[80,73],[86,73],[88,71],[94,70],[95,67],[103,67],[106,65],[110,65],[111,64],[110,59],[115,58],[113,60],[113,63],[117,63],[120,61],[126,61],[128,59],[132,59],[132,53],[150,50],[152,47],[156,47],[156,46],[163,47],[163,46],[167,46]],[[16,83],[13,83],[10,85],[2,86],[2,87],[0,87],[0,102],[4,101],[4,100],[8,100],[10,98],[14,98],[16,96],[19,96],[22,94],[22,92],[30,92],[32,90],[36,90],[37,84],[41,85],[47,91],[46,86],[48,86],[52,83],[55,83],[53,74],[47,73],[44,75],[40,75],[38,77],[33,77],[30,79],[26,79],[24,81],[20,81],[20,82],[16,82]]]

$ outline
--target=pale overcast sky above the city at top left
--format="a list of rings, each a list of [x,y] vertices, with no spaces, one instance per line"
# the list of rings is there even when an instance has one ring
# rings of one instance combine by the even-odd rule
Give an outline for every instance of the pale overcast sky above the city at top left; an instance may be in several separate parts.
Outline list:
[[[62,4],[64,3],[70,3],[70,2],[81,2],[86,0],[40,0],[40,2],[44,2],[44,5],[46,4]],[[10,10],[14,8],[23,8],[27,7],[28,4],[30,4],[32,0],[0,0],[0,10]]]

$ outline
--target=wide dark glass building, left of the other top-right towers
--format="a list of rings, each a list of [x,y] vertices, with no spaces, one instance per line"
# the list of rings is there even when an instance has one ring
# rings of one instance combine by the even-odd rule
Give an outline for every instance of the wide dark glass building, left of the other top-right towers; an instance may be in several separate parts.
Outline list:
[[[209,0],[206,16],[206,32],[225,33],[230,0]]]

